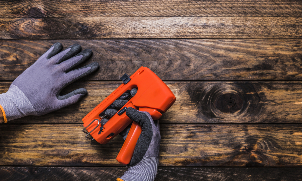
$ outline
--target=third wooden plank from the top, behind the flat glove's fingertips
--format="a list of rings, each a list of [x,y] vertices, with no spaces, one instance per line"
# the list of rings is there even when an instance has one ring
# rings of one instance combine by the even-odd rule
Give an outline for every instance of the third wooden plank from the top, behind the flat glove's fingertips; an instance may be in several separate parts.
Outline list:
[[[82,80],[120,81],[148,67],[163,80],[299,80],[301,39],[0,40],[0,80],[13,81],[56,42],[93,51]],[[82,66],[82,65],[81,65]]]

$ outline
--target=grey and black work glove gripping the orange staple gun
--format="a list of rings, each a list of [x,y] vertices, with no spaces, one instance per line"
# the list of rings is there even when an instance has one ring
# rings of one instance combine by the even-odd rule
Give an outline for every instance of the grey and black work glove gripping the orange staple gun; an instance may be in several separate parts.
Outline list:
[[[137,89],[131,90],[132,94],[136,91]],[[115,100],[113,102],[115,109],[106,110],[106,115],[111,118],[126,103],[127,100]],[[148,112],[138,111],[132,107],[126,109],[126,115],[141,125],[142,132],[137,140],[132,159],[127,165],[127,171],[117,181],[154,181],[159,164],[160,133],[158,119],[153,121]],[[108,119],[105,119],[103,122],[101,121],[101,124],[104,125],[107,121]],[[130,126],[124,129],[123,133],[121,132],[122,136],[125,135],[124,139],[126,139],[129,129]]]

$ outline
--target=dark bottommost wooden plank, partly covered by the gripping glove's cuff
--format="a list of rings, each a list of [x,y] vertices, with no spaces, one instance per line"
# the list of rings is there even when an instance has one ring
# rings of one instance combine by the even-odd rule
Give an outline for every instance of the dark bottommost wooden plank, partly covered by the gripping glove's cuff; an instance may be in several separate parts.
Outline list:
[[[0,167],[0,180],[112,181],[126,168],[116,167]],[[298,181],[302,168],[186,168],[159,167],[155,181]]]

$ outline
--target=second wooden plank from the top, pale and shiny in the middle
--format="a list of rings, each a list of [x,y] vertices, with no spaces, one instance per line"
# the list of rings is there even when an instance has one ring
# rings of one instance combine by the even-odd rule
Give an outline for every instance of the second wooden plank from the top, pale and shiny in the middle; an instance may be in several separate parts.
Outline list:
[[[301,38],[302,17],[0,18],[0,39]]]

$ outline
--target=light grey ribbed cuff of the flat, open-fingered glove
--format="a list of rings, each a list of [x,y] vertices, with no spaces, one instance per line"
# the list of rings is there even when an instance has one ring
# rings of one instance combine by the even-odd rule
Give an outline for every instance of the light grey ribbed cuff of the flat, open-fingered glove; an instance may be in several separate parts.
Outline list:
[[[0,105],[7,121],[27,115],[38,115],[25,94],[13,84],[6,93],[0,94]]]

